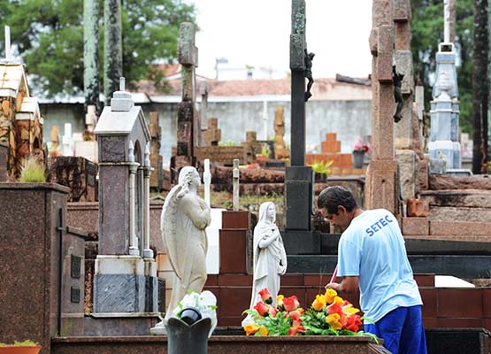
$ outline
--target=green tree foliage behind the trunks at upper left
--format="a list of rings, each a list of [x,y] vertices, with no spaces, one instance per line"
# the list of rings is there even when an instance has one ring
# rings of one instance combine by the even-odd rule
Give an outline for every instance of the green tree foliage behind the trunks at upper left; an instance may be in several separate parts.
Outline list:
[[[102,77],[104,2],[99,4]],[[165,87],[164,74],[152,64],[176,59],[180,22],[196,22],[194,5],[183,0],[124,0],[121,17],[127,86],[149,79],[157,89]],[[36,89],[45,96],[82,92],[83,0],[0,0],[0,19],[11,26],[12,44],[18,45],[27,70],[35,75]]]

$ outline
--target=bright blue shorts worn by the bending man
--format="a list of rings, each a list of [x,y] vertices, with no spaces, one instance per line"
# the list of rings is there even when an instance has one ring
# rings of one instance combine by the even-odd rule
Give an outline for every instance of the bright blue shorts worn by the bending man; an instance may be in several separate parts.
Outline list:
[[[426,354],[426,336],[421,305],[398,307],[364,331],[384,340],[384,347],[394,354]]]

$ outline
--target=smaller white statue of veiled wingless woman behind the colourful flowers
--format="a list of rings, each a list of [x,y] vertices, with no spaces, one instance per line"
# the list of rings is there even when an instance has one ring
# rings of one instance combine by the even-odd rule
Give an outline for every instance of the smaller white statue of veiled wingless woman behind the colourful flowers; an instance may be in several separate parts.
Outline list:
[[[250,309],[253,309],[254,305],[261,300],[259,291],[263,289],[268,289],[272,297],[272,304],[276,306],[276,296],[280,291],[280,276],[287,273],[287,252],[275,221],[276,206],[274,203],[261,204],[259,220],[257,226],[254,227],[254,275]],[[248,315],[242,321],[242,326],[252,321]]]

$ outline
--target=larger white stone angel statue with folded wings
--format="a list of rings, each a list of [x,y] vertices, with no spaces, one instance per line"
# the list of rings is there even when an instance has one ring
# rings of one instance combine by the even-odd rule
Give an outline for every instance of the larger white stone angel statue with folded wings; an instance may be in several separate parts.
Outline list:
[[[165,198],[160,231],[167,257],[175,273],[173,293],[165,322],[188,290],[201,293],[206,282],[206,250],[204,229],[210,225],[210,207],[196,191],[201,179],[195,167],[182,167],[178,184]]]

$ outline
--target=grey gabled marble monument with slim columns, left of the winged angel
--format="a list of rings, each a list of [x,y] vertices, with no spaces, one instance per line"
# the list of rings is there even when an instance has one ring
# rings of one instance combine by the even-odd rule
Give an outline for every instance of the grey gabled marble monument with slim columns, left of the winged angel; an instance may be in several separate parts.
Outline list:
[[[99,147],[99,254],[94,312],[157,312],[150,250],[150,133],[121,78],[95,133]]]

